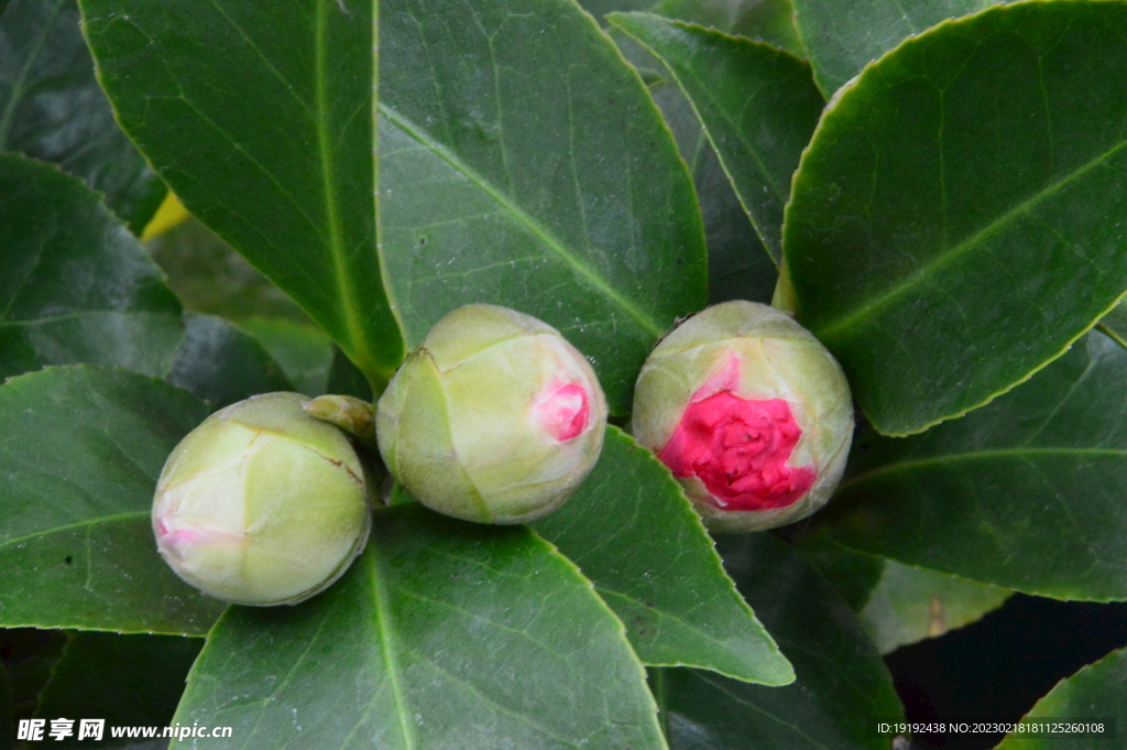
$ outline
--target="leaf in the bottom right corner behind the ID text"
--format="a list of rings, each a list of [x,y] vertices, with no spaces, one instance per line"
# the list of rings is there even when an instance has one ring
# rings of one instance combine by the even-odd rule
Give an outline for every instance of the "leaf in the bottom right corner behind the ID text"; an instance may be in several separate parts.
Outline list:
[[[1009,734],[997,750],[1079,750],[1099,748],[1122,732],[1127,725],[1127,648],[1113,651],[1094,664],[1084,667],[1037,702],[1022,722],[1056,723],[1070,718],[1079,723],[1103,724],[1101,734],[1064,734],[1030,739]],[[1094,721],[1093,721],[1094,720]],[[1110,720],[1110,721],[1108,721]]]

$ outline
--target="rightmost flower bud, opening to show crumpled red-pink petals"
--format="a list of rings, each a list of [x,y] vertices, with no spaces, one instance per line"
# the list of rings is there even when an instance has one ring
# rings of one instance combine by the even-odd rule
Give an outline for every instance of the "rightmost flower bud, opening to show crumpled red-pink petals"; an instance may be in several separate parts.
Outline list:
[[[650,353],[633,436],[681,480],[713,531],[771,529],[833,494],[853,438],[841,365],[784,312],[734,301]]]

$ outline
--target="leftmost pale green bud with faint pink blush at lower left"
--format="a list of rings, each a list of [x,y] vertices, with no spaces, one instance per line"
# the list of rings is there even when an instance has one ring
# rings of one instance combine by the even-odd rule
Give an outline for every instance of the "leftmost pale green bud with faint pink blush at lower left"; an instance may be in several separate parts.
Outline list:
[[[239,605],[293,605],[336,581],[371,528],[369,483],[337,427],[299,394],[221,409],[165,464],[157,548],[184,581]]]

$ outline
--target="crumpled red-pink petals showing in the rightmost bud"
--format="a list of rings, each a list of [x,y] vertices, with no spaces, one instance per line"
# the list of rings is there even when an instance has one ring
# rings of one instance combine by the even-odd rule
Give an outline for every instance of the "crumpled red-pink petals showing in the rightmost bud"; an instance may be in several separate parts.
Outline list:
[[[762,511],[786,508],[814,485],[813,465],[787,466],[801,436],[786,400],[740,398],[725,389],[694,396],[657,457],[674,476],[700,478],[717,508]]]

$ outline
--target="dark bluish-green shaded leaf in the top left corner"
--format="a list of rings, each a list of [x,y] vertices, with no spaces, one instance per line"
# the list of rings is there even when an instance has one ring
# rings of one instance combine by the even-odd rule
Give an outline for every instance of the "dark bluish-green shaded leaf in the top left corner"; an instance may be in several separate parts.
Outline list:
[[[74,0],[0,7],[0,150],[57,164],[140,235],[165,184],[114,122]]]

